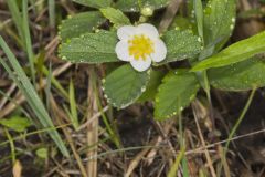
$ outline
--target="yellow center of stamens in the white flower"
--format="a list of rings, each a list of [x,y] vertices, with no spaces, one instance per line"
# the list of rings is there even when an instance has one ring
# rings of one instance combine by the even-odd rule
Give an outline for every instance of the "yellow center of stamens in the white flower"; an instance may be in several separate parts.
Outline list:
[[[145,61],[148,55],[155,52],[153,42],[150,40],[150,38],[144,34],[134,35],[134,38],[129,40],[128,43],[129,55],[134,56],[135,60],[142,59]]]

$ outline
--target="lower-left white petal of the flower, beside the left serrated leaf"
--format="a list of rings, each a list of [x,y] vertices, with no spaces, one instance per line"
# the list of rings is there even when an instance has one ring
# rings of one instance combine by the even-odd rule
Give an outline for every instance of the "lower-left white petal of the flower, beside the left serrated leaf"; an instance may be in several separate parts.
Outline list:
[[[115,52],[116,52],[119,60],[126,61],[126,62],[132,60],[132,56],[129,55],[129,50],[128,49],[129,49],[128,42],[125,41],[125,40],[119,41],[116,44]]]

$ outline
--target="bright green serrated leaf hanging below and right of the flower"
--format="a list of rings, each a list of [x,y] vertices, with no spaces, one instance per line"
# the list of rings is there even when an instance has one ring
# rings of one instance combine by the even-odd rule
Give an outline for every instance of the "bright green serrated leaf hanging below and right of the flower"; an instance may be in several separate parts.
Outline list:
[[[156,96],[156,119],[163,121],[179,114],[195,97],[199,88],[193,73],[177,71],[166,75]]]

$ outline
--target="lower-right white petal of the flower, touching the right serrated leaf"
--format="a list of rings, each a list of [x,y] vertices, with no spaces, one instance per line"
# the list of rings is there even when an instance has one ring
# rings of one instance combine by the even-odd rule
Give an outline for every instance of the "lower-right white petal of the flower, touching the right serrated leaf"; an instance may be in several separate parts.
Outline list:
[[[155,53],[151,54],[153,62],[161,62],[167,56],[167,46],[162,40],[157,39],[155,41]]]

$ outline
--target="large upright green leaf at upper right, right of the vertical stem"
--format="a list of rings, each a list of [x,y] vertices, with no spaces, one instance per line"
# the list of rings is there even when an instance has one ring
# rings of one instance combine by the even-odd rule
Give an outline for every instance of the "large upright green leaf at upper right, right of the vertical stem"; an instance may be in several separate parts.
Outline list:
[[[221,39],[218,50],[222,48],[234,29],[235,12],[235,0],[210,0],[208,2],[203,21],[205,45]]]

